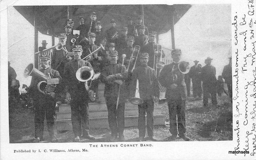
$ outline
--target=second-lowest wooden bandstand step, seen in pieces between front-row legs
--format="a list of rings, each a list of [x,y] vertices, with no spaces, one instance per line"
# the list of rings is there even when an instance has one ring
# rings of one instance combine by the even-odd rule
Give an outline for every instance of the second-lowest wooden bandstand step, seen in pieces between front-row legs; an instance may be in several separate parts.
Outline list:
[[[162,111],[160,108],[154,108],[154,115],[160,115],[162,114]],[[61,113],[56,112],[56,119],[71,119],[71,113]],[[138,116],[139,112],[137,110],[124,110],[124,116]],[[101,110],[101,111],[89,111],[89,118],[102,118],[102,117],[108,117],[108,111],[107,110]]]

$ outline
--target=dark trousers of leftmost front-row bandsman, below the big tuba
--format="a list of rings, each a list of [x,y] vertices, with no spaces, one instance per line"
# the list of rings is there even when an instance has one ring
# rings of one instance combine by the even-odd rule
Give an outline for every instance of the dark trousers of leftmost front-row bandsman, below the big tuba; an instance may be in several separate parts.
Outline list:
[[[50,137],[54,135],[53,124],[55,107],[51,100],[34,100],[35,106],[35,138],[43,138],[44,134],[44,115]]]

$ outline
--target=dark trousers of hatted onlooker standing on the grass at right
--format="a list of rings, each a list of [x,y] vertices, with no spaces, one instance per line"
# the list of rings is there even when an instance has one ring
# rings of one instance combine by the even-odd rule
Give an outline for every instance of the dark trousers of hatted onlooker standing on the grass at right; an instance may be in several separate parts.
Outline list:
[[[211,94],[212,104],[217,105],[215,84],[203,84],[203,93],[204,93],[204,98],[203,98],[204,106],[208,104],[208,98],[210,98],[209,94]]]

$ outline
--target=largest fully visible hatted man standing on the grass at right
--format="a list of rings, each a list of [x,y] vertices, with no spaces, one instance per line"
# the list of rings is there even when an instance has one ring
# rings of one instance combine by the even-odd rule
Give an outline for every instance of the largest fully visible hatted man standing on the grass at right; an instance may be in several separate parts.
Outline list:
[[[203,104],[204,107],[208,106],[208,97],[211,94],[212,97],[212,104],[217,105],[216,100],[216,68],[212,66],[212,58],[207,57],[204,61],[205,66],[202,68],[201,71],[201,78],[203,81]]]

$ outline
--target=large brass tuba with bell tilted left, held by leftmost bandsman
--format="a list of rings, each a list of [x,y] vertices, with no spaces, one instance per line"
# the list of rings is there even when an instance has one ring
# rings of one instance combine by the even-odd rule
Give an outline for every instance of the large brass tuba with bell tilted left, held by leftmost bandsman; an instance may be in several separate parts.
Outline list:
[[[24,77],[26,78],[28,76],[35,76],[35,77],[39,78],[40,80],[42,80],[37,84],[37,89],[39,92],[41,92],[43,94],[55,92],[56,84],[54,84],[54,85],[47,84],[47,79],[51,78],[50,74],[49,74],[49,76],[46,76],[44,73],[42,73],[38,69],[36,69],[32,63],[30,63],[24,71]]]

